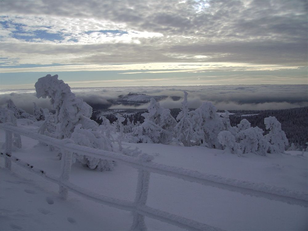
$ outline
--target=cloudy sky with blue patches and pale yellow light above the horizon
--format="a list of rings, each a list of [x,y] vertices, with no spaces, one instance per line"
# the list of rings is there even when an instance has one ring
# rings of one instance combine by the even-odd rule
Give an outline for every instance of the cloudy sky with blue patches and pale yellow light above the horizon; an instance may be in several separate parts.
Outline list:
[[[0,0],[0,87],[307,84],[305,0]]]

